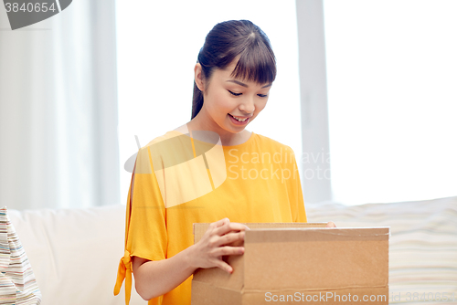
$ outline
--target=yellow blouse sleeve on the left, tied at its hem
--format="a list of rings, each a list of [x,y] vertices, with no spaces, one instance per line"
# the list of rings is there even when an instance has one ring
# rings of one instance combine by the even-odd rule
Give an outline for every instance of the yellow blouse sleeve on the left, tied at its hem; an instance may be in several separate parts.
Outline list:
[[[125,304],[132,291],[132,257],[149,260],[166,258],[166,210],[156,176],[151,150],[145,146],[138,152],[126,206],[125,247],[118,268],[114,295],[118,295],[125,279]]]

